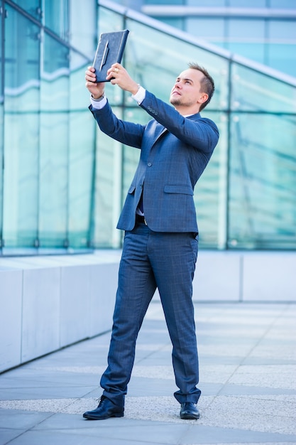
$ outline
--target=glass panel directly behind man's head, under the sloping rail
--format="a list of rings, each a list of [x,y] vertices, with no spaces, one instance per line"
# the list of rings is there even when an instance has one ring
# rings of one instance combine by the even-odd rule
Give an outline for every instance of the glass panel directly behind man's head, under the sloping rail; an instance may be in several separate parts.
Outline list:
[[[216,92],[207,109],[226,106],[227,60],[140,23],[128,20],[127,27],[131,33],[126,45],[126,68],[143,87],[168,102],[177,75],[187,69],[189,62],[196,61],[209,70],[216,83]]]

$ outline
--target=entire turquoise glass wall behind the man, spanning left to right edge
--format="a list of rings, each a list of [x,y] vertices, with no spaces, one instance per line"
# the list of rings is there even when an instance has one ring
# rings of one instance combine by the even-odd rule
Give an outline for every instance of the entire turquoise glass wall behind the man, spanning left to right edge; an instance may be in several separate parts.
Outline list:
[[[108,1],[4,4],[0,254],[121,247],[116,223],[139,151],[99,132],[84,71],[100,33],[124,28],[124,66],[160,99],[190,61],[214,77],[202,115],[220,139],[194,191],[200,247],[295,249],[296,82]],[[119,87],[106,84],[106,95],[119,117],[150,119]]]

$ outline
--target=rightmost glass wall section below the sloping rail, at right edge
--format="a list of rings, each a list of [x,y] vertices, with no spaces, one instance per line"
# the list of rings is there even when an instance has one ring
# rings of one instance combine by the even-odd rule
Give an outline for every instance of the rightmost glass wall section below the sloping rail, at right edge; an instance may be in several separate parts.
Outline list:
[[[296,88],[234,63],[229,245],[296,247]]]

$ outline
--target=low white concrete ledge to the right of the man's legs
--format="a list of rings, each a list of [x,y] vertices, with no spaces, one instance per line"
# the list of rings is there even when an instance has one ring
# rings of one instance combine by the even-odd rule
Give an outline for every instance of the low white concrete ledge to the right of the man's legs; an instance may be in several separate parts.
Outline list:
[[[193,299],[296,302],[296,252],[201,250]]]

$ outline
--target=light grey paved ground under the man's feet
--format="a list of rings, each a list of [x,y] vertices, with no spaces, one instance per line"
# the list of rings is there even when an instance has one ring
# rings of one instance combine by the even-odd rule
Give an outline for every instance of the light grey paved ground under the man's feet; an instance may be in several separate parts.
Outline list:
[[[296,444],[296,305],[196,304],[201,418],[181,420],[158,301],[138,338],[120,419],[97,407],[109,333],[0,376],[0,444]]]

